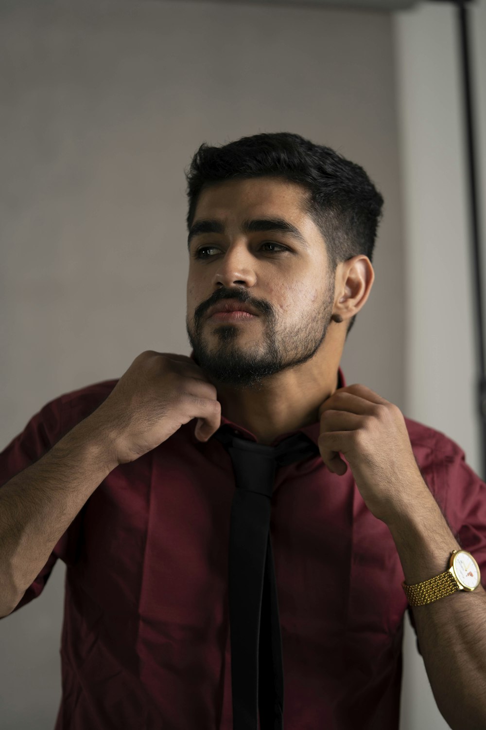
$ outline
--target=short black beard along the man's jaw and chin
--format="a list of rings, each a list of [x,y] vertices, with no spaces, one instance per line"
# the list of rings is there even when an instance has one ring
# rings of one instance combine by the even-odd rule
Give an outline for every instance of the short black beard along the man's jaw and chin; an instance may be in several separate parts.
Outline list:
[[[240,345],[241,324],[214,324],[211,339],[203,334],[211,327],[205,312],[220,299],[236,299],[251,304],[259,315],[262,334],[251,345]],[[310,360],[326,337],[332,319],[334,281],[329,282],[326,296],[318,309],[302,312],[299,323],[292,326],[278,321],[267,302],[250,300],[246,289],[219,289],[211,299],[200,304],[192,320],[186,318],[187,336],[194,350],[197,365],[217,383],[238,388],[262,388],[265,378]],[[250,325],[251,326],[251,325]]]

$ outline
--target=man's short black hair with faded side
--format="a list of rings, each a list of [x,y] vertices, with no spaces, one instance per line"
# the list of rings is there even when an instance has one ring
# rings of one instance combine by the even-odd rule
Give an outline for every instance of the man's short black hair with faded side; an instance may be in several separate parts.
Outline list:
[[[203,189],[236,178],[281,177],[307,189],[303,210],[324,238],[329,276],[334,277],[341,261],[360,253],[372,261],[383,197],[361,166],[331,147],[290,132],[254,134],[222,147],[203,142],[184,172],[188,230]],[[348,323],[346,337],[356,316]]]

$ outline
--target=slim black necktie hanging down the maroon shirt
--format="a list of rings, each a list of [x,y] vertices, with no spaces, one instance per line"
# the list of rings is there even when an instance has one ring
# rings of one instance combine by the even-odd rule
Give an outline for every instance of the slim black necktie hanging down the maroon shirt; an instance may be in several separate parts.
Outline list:
[[[236,491],[230,519],[229,602],[233,730],[283,730],[283,656],[270,539],[277,466],[318,456],[302,432],[277,446],[240,439],[222,426]]]

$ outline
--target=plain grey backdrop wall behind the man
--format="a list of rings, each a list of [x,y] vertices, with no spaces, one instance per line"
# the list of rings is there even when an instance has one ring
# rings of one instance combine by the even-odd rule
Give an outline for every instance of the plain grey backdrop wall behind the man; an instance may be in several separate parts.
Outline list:
[[[192,0],[0,4],[0,447],[48,400],[119,377],[142,350],[189,354],[184,167],[201,142],[261,131],[334,147],[382,191],[375,285],[342,369],[455,437],[407,396],[404,211],[418,214],[399,110],[416,17]],[[428,387],[425,369],[418,377]],[[469,439],[471,410],[465,418]],[[0,622],[4,730],[54,725],[63,577],[58,563],[39,599]],[[409,730],[422,727],[407,679],[422,660],[406,652]],[[428,726],[444,727],[421,685]]]

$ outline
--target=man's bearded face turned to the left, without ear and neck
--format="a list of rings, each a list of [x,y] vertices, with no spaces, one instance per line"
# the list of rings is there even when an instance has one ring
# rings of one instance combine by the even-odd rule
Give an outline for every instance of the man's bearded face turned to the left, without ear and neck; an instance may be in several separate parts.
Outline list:
[[[197,363],[219,383],[259,384],[309,360],[326,337],[334,274],[321,233],[301,210],[304,193],[300,185],[260,177],[200,194],[195,235],[189,232],[186,325]],[[297,233],[256,230],[258,224],[246,230],[245,223],[270,218]],[[218,225],[198,226],[209,220]],[[257,316],[208,317],[222,300],[244,302]]]

